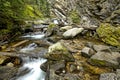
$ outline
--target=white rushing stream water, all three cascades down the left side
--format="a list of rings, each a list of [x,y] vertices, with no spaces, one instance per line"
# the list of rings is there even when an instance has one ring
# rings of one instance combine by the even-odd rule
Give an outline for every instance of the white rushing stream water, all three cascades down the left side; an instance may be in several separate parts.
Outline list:
[[[32,33],[22,36],[26,39],[43,39],[45,36],[44,33]],[[37,44],[31,43],[28,46],[22,48],[20,52],[32,52],[37,48]],[[40,56],[34,57],[22,57],[23,66],[19,68],[17,76],[11,80],[45,80],[46,73],[40,69],[40,65],[46,62],[46,59],[41,58]]]

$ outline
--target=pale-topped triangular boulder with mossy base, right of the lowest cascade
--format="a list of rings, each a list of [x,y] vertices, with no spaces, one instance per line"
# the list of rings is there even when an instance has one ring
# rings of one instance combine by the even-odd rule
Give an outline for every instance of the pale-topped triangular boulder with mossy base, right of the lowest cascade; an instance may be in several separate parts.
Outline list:
[[[49,47],[48,53],[45,54],[45,58],[50,60],[66,60],[74,61],[74,58],[67,48],[61,43],[57,42]]]

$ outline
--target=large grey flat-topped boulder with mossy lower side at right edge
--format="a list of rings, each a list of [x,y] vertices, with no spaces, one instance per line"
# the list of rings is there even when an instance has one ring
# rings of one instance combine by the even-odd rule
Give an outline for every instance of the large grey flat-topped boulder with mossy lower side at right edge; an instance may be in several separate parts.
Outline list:
[[[97,52],[90,58],[89,62],[92,65],[117,68],[119,67],[118,57],[120,57],[118,52]]]

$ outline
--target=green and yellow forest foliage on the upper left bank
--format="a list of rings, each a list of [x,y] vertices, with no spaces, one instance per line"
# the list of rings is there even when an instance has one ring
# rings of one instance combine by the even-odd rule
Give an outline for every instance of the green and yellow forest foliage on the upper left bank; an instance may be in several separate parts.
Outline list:
[[[25,20],[49,17],[47,0],[0,0],[0,40],[21,34]]]

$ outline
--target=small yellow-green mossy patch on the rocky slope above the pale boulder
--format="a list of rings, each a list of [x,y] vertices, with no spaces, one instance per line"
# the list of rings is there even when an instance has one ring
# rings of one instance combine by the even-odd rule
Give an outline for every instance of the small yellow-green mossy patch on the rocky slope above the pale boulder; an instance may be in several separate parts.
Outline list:
[[[80,17],[76,10],[73,10],[69,13],[70,18],[72,19],[73,23],[80,23]]]

